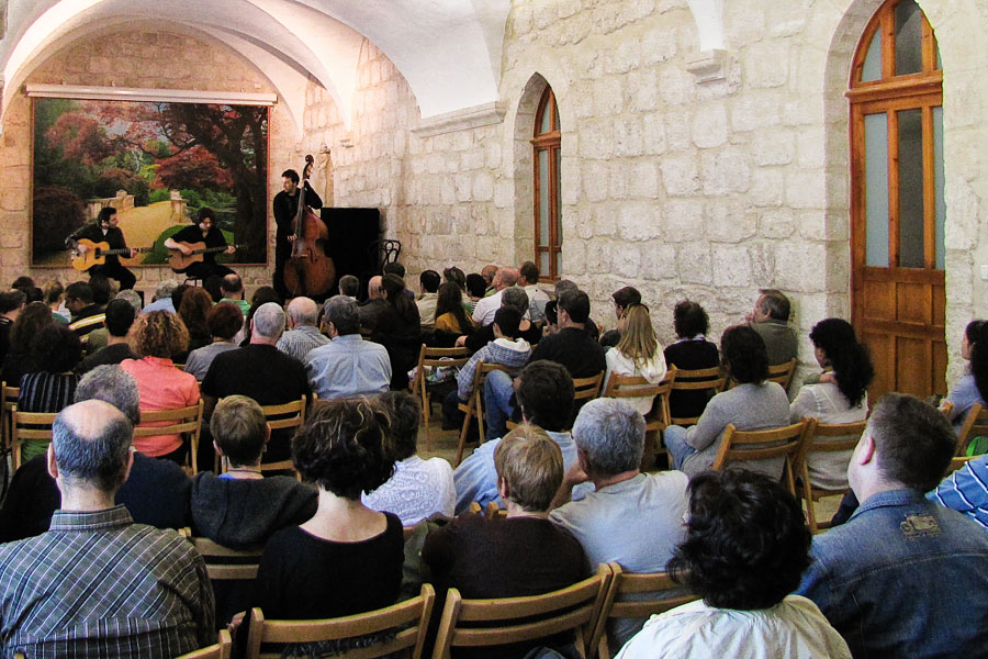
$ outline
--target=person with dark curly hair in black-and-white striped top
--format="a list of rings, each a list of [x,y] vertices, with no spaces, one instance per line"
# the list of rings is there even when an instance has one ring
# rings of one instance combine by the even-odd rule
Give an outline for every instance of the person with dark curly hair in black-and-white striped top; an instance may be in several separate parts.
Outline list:
[[[31,372],[21,377],[20,412],[60,412],[70,405],[79,376],[72,370],[82,357],[82,342],[65,325],[42,330],[34,343]],[[21,462],[45,453],[44,439],[27,439],[21,446]]]

